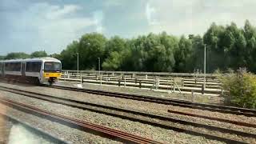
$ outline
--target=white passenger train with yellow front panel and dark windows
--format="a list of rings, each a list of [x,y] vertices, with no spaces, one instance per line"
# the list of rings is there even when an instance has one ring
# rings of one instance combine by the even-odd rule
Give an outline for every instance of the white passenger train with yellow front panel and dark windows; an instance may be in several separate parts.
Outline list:
[[[27,58],[0,61],[0,77],[34,84],[52,85],[62,76],[62,62],[56,58]]]

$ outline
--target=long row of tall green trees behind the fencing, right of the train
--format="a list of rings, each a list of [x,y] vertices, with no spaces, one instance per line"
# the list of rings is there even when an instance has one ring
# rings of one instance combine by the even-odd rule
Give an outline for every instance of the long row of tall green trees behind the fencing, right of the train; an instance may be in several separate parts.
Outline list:
[[[206,72],[237,70],[247,67],[256,72],[256,28],[249,21],[240,28],[235,23],[218,26],[213,23],[206,33],[177,37],[148,34],[137,38],[106,38],[102,34],[84,34],[70,43],[61,54],[62,69],[193,72],[203,70],[206,45]],[[8,56],[8,55],[7,55]]]

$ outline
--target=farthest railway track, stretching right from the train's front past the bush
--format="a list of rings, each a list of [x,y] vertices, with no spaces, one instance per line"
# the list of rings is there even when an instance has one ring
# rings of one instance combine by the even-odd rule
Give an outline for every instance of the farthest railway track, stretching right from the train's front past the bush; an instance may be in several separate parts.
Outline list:
[[[106,90],[91,90],[91,89],[84,89],[84,88],[81,89],[81,88],[75,88],[70,86],[51,86],[51,87],[55,89],[61,89],[61,90],[80,91],[88,94],[99,94],[99,95],[106,95],[109,97],[134,99],[138,101],[155,102],[159,104],[189,107],[189,108],[194,108],[199,110],[210,110],[210,111],[216,111],[216,112],[221,112],[226,114],[238,114],[238,115],[245,115],[248,117],[256,117],[256,110],[239,108],[234,106],[219,106],[219,105],[190,102],[186,100],[178,100],[178,99],[172,99],[172,98],[159,98],[159,97],[153,97],[153,96],[147,96],[147,95],[116,93],[116,92],[110,92]]]

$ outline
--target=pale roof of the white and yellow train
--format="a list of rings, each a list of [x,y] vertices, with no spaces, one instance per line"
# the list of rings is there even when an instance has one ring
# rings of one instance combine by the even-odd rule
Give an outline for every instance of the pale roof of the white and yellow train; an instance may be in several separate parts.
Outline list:
[[[42,57],[42,58],[26,58],[26,59],[9,59],[0,62],[60,62],[56,58]]]

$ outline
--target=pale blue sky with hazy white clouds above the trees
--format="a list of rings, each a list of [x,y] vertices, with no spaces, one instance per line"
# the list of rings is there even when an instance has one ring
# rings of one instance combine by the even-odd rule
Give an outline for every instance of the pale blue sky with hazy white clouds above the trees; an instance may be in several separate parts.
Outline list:
[[[255,0],[0,0],[0,55],[60,53],[82,34],[204,34],[212,22],[256,26]]]

